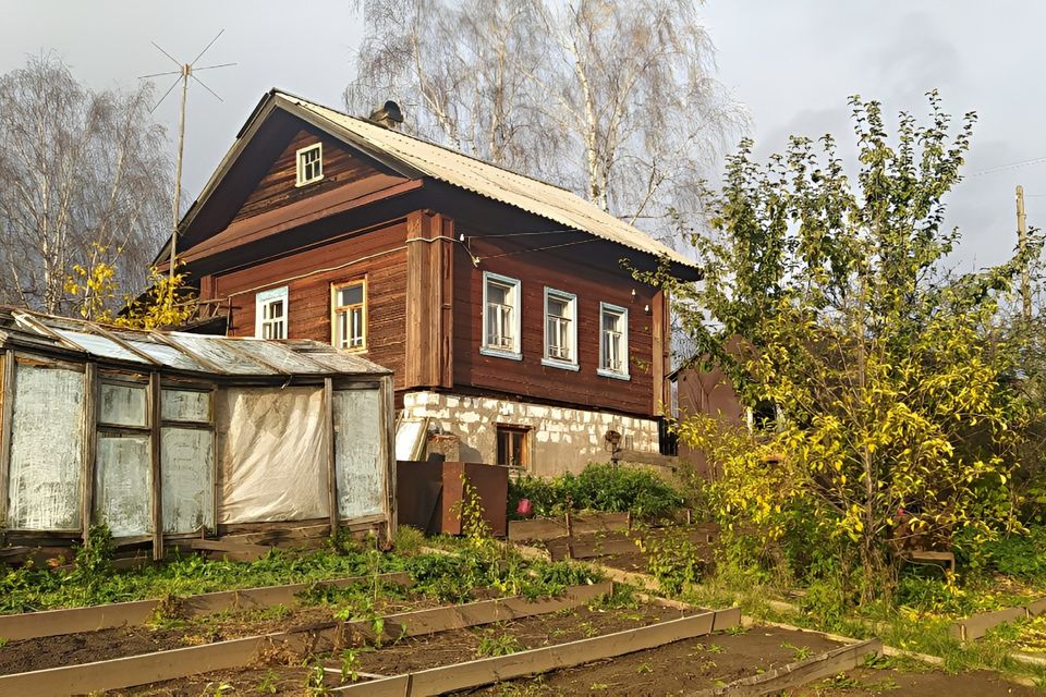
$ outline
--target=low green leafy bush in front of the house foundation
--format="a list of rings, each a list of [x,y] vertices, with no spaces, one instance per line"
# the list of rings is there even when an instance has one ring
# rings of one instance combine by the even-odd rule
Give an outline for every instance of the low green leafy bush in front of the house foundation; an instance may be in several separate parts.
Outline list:
[[[569,503],[575,510],[656,518],[683,505],[683,497],[654,473],[613,464],[552,479],[522,477],[509,485],[510,514],[520,499],[530,499],[536,515],[560,514]]]

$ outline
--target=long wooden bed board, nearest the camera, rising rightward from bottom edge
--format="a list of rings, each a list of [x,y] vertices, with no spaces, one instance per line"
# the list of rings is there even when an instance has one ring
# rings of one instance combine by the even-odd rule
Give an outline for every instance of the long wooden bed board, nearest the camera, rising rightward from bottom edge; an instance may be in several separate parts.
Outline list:
[[[659,622],[646,627],[625,629],[591,639],[484,658],[464,663],[431,668],[382,680],[336,687],[331,692],[368,697],[428,697],[471,689],[501,681],[536,673],[581,665],[591,661],[615,658],[673,641],[711,634],[737,626],[741,609],[730,608],[715,612]]]

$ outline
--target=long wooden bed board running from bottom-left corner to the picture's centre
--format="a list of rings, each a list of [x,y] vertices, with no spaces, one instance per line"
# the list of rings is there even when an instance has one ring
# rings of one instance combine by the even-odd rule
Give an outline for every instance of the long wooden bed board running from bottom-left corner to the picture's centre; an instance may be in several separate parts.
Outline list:
[[[547,614],[582,606],[610,592],[612,587],[610,583],[573,586],[557,598],[527,600],[515,596],[482,600],[464,606],[401,612],[384,617],[385,634],[391,638],[418,636]],[[279,632],[108,661],[0,675],[0,695],[57,697],[178,680],[210,671],[250,665],[263,648],[278,644],[291,645],[295,650],[330,650],[338,645],[343,631],[358,632],[366,636],[373,635],[373,627],[374,623],[366,620],[344,625],[332,622],[327,626],[308,629]]]

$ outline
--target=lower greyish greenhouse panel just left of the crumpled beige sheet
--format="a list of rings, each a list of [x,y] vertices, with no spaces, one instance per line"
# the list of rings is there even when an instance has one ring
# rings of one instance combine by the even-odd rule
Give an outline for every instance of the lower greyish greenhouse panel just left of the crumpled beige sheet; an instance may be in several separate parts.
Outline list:
[[[165,533],[196,533],[200,527],[214,529],[214,435],[209,429],[160,429]]]

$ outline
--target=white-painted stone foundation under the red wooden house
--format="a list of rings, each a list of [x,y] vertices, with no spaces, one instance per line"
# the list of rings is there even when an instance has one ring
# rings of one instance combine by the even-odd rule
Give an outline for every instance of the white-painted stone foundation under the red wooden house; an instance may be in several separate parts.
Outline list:
[[[527,428],[528,470],[543,477],[609,462],[608,430],[621,433],[622,448],[658,452],[657,421],[646,418],[439,392],[404,394],[403,411],[406,417],[427,416],[445,433],[458,436],[463,462],[497,462],[498,426]]]

